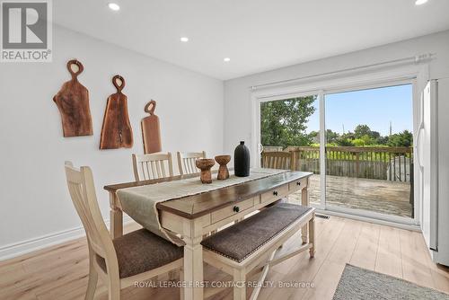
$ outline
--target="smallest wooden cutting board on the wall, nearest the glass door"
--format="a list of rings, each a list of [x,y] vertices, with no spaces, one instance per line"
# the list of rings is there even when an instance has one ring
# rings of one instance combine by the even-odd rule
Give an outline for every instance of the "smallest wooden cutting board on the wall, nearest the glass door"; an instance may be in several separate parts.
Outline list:
[[[154,114],[156,101],[149,101],[145,105],[145,112],[150,115],[142,119],[142,138],[144,140],[145,154],[161,152],[161,131],[159,128],[159,118]]]

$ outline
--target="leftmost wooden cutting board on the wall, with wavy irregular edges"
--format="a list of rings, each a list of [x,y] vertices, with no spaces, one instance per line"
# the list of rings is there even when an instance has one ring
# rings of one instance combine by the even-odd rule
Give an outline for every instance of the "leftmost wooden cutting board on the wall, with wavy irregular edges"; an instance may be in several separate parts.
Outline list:
[[[75,70],[73,69],[75,67]],[[64,83],[53,97],[61,114],[64,137],[92,136],[92,116],[89,108],[89,91],[78,82],[84,71],[83,64],[72,59],[67,62],[72,79]]]

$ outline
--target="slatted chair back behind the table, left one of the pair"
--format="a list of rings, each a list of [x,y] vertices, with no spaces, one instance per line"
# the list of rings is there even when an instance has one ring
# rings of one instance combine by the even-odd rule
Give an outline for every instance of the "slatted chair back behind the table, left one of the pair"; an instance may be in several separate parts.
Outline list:
[[[133,169],[136,181],[172,177],[172,154],[133,154]]]

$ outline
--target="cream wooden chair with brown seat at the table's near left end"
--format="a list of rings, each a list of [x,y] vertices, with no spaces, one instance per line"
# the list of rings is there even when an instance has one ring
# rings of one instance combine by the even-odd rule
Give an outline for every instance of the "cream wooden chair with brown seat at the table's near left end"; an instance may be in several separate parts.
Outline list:
[[[145,229],[111,239],[101,217],[89,167],[78,170],[66,162],[66,181],[87,237],[89,281],[86,300],[93,299],[99,277],[108,287],[108,299],[119,300],[121,289],[182,267],[183,247]]]

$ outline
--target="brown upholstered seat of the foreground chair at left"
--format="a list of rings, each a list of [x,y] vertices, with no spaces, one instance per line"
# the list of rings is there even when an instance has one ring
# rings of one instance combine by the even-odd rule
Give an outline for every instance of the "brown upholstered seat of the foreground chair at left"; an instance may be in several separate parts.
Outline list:
[[[122,235],[112,241],[119,260],[119,277],[133,275],[156,269],[184,255],[184,248],[172,244],[146,229],[139,229]],[[106,263],[97,255],[97,261],[104,271]]]

